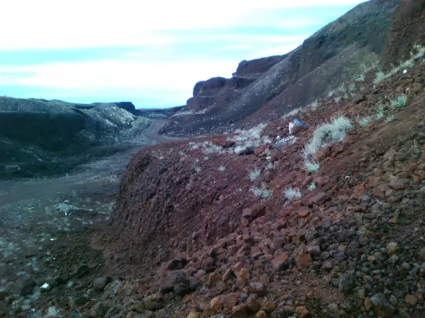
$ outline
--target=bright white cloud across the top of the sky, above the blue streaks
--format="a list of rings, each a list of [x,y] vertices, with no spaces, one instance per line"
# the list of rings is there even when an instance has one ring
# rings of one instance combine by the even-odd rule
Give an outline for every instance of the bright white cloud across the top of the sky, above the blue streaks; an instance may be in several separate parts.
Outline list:
[[[162,34],[162,31],[243,27],[256,25],[256,21],[261,20],[262,10],[359,2],[361,1],[1,1],[0,50],[170,44],[175,39]],[[263,20],[263,23],[267,22],[267,19]],[[282,23],[302,25],[311,21],[289,19],[288,23],[280,22]]]

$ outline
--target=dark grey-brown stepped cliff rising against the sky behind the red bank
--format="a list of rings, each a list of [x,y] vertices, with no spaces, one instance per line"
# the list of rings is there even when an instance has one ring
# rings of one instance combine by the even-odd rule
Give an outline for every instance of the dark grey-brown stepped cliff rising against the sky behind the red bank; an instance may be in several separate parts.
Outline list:
[[[361,65],[378,62],[399,4],[361,3],[291,53],[243,61],[231,79],[200,81],[182,113],[161,132],[184,136],[226,131],[250,124],[252,118],[269,120],[311,103],[335,85],[362,75]]]

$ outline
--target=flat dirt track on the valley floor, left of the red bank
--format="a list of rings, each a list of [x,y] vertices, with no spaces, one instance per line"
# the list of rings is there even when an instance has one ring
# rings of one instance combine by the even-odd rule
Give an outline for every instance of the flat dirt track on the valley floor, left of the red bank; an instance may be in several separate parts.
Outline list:
[[[101,263],[87,246],[93,225],[108,219],[120,175],[137,151],[172,140],[158,135],[164,123],[152,124],[147,142],[66,176],[0,182],[0,317],[30,317],[28,307],[34,308],[31,317],[42,317],[47,299],[63,295],[60,288],[40,294],[42,284],[82,263]]]

